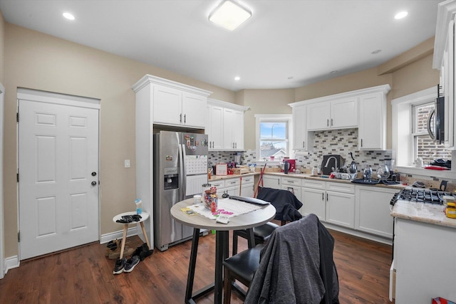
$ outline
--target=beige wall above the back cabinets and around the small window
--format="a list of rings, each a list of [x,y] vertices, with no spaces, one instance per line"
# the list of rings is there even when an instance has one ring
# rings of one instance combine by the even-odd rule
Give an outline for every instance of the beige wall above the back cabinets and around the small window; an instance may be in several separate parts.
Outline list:
[[[426,41],[426,44],[428,43],[429,41]],[[421,49],[423,46],[417,46],[417,48]],[[415,53],[416,52],[412,49],[398,56],[400,61],[395,64],[398,66],[400,65],[400,67],[397,69],[391,68],[393,71],[391,73],[385,73],[384,75],[378,75],[379,70],[383,68],[380,66],[378,68],[370,68],[358,73],[351,73],[330,80],[312,83],[294,90],[239,91],[237,93],[237,103],[251,107],[251,110],[246,112],[245,115],[246,130],[255,130],[255,114],[291,113],[291,108],[287,105],[288,103],[388,84],[391,87],[391,91],[388,94],[386,134],[387,147],[390,149],[390,101],[394,98],[399,98],[419,90],[431,88],[439,82],[439,71],[432,69],[433,54],[430,53],[430,55],[421,58],[421,53],[418,54],[418,56]],[[404,64],[404,62],[407,62],[407,64]],[[388,67],[390,68],[390,63],[388,64]],[[245,133],[244,147],[249,150],[255,149],[254,132]]]

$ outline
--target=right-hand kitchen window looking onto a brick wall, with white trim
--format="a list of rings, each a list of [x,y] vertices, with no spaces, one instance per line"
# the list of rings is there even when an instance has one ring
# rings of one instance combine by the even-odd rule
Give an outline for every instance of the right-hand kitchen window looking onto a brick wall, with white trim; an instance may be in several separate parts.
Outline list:
[[[436,97],[435,88],[429,88],[391,101],[393,159],[400,172],[430,176],[431,170],[415,166],[418,157],[424,165],[440,158],[455,162],[455,151],[438,145],[427,134],[425,121]],[[451,172],[455,172],[454,167],[450,172],[432,170],[432,176],[451,177]]]

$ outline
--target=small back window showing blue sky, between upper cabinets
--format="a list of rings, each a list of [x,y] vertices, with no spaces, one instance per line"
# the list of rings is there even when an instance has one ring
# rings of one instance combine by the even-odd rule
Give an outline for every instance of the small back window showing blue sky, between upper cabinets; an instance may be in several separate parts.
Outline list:
[[[291,115],[255,115],[257,161],[281,162],[292,157],[290,150]]]

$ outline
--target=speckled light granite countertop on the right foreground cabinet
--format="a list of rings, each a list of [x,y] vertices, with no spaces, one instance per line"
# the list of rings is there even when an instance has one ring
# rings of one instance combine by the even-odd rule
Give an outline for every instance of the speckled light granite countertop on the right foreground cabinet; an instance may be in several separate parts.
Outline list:
[[[445,216],[444,210],[445,207],[442,205],[398,200],[393,206],[391,216],[456,228],[456,219],[450,219]]]

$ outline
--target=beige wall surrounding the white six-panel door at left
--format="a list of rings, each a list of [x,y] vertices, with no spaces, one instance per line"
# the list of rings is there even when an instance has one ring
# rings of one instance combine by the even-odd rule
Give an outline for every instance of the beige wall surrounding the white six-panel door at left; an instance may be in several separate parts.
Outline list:
[[[16,196],[16,88],[100,98],[101,234],[118,231],[115,214],[135,200],[135,94],[131,86],[145,74],[214,92],[234,103],[230,90],[138,61],[6,23],[7,81],[4,136],[5,256],[18,254]],[[130,159],[125,169],[123,160]]]

